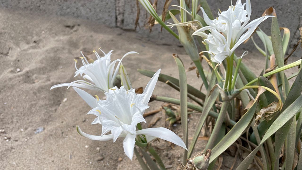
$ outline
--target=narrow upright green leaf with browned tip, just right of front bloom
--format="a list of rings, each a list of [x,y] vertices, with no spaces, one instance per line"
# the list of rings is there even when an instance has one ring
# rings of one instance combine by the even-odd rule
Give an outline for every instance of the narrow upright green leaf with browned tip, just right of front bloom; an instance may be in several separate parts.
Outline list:
[[[174,60],[178,67],[179,72],[179,88],[180,88],[180,116],[181,116],[181,123],[182,123],[182,133],[183,133],[183,140],[185,145],[188,146],[188,87],[187,87],[187,76],[184,65],[182,61],[173,55]],[[184,159],[183,164],[186,164],[188,151],[184,151]]]

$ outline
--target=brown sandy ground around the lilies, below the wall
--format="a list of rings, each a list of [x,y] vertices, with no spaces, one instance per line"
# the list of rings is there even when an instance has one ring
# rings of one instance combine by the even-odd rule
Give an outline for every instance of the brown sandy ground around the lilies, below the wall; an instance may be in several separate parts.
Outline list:
[[[113,143],[80,136],[76,125],[90,134],[101,132],[100,125],[90,125],[94,120],[94,116],[86,115],[90,107],[74,90],[64,87],[50,90],[50,87],[77,79],[73,77],[73,59],[80,57],[79,51],[94,57],[93,49],[102,47],[106,52],[113,49],[113,59],[128,51],[139,52],[128,56],[123,64],[133,87],[145,87],[149,78],[139,74],[138,68],[153,71],[162,68],[162,73],[178,77],[172,53],[178,53],[188,68],[190,59],[184,49],[177,43],[158,42],[156,37],[150,39],[73,18],[1,10],[0,23],[0,129],[5,129],[0,132],[0,169],[140,169],[135,156],[131,162],[124,155],[121,139]],[[244,62],[258,74],[264,64],[263,58],[257,56],[258,52],[249,53]],[[195,71],[188,72],[188,83],[199,88],[201,80],[196,80]],[[154,94],[179,98],[177,91],[161,82]],[[146,112],[158,109],[161,104],[150,103]],[[154,127],[166,126],[164,116],[160,112],[147,117],[147,124],[155,117],[162,117]],[[197,120],[198,114],[190,117],[189,136],[193,135]],[[37,129],[43,131],[36,133]],[[172,130],[182,137],[180,124]],[[205,144],[206,141],[199,140],[194,154],[201,152]],[[155,148],[165,165],[172,165],[171,169],[180,165],[180,147],[172,149],[161,140]],[[100,157],[103,159],[99,160]],[[227,154],[223,158],[223,168],[227,169],[233,158]]]

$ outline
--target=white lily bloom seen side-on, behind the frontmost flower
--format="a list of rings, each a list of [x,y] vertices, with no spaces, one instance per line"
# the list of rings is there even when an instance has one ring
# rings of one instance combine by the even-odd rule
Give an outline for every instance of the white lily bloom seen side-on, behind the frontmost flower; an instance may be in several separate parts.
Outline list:
[[[122,59],[129,54],[138,54],[135,51],[130,51],[126,53],[121,59],[117,59],[111,62],[112,51],[113,50],[109,51],[108,54],[105,54],[104,51],[102,51],[104,57],[100,57],[99,54],[94,50],[93,52],[95,53],[97,60],[95,60],[93,63],[89,63],[81,51],[81,54],[83,56],[81,57],[83,66],[78,69],[76,67],[77,60],[75,60],[75,77],[78,75],[82,77],[82,74],[85,74],[83,78],[85,78],[89,82],[85,80],[76,80],[71,83],[61,83],[54,85],[50,88],[50,90],[57,87],[80,87],[101,92],[108,92],[108,89],[113,87],[113,83],[115,77],[117,76]],[[118,64],[116,69],[114,70],[116,62],[118,62]]]

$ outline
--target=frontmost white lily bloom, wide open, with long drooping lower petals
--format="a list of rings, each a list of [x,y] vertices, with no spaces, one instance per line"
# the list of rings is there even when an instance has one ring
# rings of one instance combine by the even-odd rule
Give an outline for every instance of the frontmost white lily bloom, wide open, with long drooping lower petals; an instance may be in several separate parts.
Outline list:
[[[87,113],[97,116],[92,124],[100,123],[102,125],[101,136],[84,133],[77,126],[79,134],[88,139],[99,141],[113,139],[115,142],[117,138],[125,138],[123,141],[124,152],[131,160],[137,135],[146,135],[147,142],[161,138],[187,149],[182,139],[169,129],[160,127],[137,130],[137,123],[146,123],[143,113],[149,108],[148,103],[159,73],[160,69],[153,75],[142,94],[136,94],[134,89],[126,90],[123,86],[120,89],[113,87],[109,92],[105,92],[106,100],[99,100],[98,97],[95,99],[84,90],[73,87],[93,108]],[[111,132],[111,134],[105,135],[107,132]]]

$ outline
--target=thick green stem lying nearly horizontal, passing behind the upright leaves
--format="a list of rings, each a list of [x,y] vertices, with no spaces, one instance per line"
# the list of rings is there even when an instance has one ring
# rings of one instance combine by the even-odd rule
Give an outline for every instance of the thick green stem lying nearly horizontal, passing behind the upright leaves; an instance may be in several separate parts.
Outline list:
[[[180,105],[180,100],[173,99],[170,97],[156,96],[154,100]],[[188,102],[188,108],[196,110],[198,112],[203,112],[203,110],[204,110],[203,107],[194,105],[193,103],[189,103],[189,102]],[[209,116],[217,119],[219,115],[218,115],[218,113],[210,111]],[[227,119],[224,119],[224,123],[226,123],[227,125],[230,125],[230,126],[234,126],[236,124],[235,121],[227,120]]]

